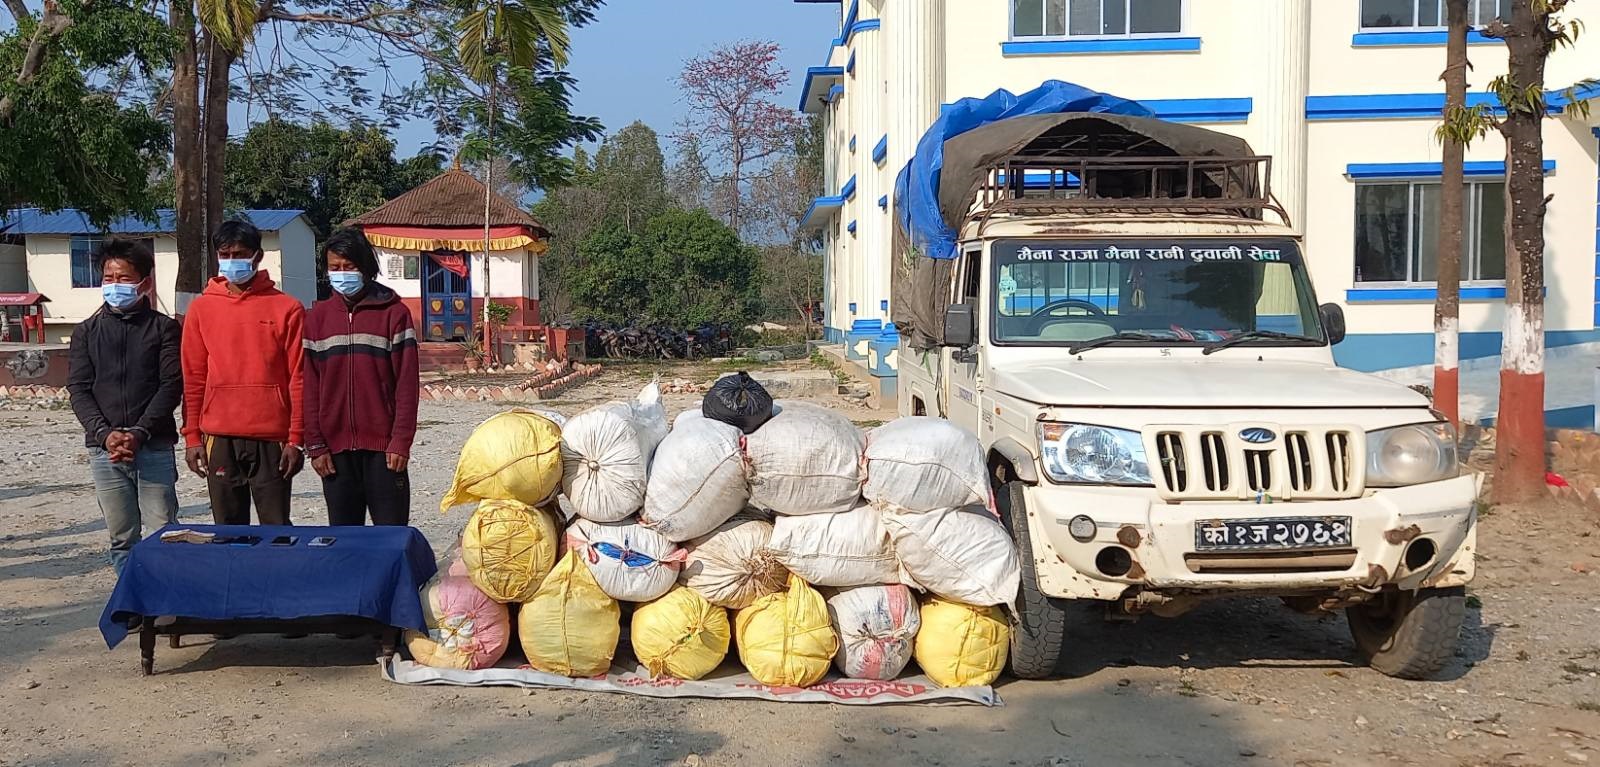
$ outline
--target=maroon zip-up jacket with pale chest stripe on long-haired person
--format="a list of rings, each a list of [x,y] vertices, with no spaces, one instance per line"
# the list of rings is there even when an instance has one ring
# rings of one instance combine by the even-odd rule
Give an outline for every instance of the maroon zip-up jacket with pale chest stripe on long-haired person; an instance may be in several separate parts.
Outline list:
[[[418,355],[411,311],[370,282],[352,306],[334,295],[306,312],[306,455],[411,456]]]

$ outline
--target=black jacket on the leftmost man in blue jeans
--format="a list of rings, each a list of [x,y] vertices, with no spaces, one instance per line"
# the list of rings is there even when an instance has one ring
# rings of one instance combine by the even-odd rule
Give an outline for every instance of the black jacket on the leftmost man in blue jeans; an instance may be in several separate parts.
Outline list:
[[[141,304],[126,314],[102,306],[72,331],[67,392],[83,424],[83,444],[106,447],[114,431],[142,445],[178,442],[173,412],[184,396],[178,320]]]

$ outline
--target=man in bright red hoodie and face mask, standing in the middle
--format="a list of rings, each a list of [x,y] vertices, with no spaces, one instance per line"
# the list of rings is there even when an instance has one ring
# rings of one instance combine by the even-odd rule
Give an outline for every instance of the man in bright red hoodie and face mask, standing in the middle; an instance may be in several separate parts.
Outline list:
[[[301,357],[306,309],[261,269],[261,232],[227,221],[211,235],[218,277],[184,315],[184,445],[206,477],[211,517],[290,524],[302,464]]]

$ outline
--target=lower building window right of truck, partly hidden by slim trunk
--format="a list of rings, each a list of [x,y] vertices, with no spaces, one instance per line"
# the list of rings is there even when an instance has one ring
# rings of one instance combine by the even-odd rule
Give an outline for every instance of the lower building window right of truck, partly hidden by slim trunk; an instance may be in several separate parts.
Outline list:
[[[1438,181],[1355,186],[1355,282],[1438,280]],[[1506,183],[1469,181],[1462,282],[1506,279]]]

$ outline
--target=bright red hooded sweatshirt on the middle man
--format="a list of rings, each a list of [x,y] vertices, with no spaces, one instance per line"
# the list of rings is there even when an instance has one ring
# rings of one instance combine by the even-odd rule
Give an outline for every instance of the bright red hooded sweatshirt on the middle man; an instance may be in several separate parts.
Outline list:
[[[184,315],[184,444],[202,434],[304,445],[306,309],[266,272],[237,293],[213,277]]]

